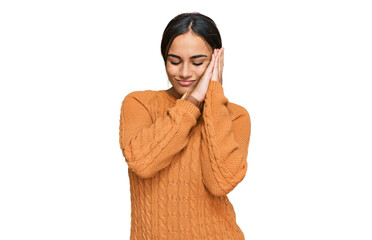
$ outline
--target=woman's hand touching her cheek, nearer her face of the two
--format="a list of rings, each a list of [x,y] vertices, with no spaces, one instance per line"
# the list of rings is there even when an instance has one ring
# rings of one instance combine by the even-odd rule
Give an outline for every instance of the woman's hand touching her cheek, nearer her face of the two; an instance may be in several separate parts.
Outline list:
[[[218,60],[220,52],[221,52],[220,49],[214,49],[213,54],[212,54],[212,59],[209,62],[207,69],[205,70],[203,76],[200,78],[198,85],[195,87],[195,89],[191,93],[191,95],[200,102],[204,100],[205,95],[207,94],[209,81],[212,78],[213,69],[216,65],[215,63]]]

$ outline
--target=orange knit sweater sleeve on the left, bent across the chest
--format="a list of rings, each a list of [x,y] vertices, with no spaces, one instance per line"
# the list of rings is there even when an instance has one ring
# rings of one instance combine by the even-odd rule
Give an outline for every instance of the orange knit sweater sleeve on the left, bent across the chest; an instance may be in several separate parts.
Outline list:
[[[144,101],[133,93],[122,101],[120,148],[134,173],[151,178],[187,146],[188,134],[201,112],[191,102],[177,99],[164,116],[153,120]]]

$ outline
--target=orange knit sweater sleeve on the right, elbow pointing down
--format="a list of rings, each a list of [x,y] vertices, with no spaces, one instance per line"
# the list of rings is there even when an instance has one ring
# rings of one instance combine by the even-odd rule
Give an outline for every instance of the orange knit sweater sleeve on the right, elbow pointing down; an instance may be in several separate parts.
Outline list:
[[[238,106],[228,108],[222,85],[210,81],[203,109],[201,165],[203,183],[215,196],[224,196],[247,172],[251,119]]]

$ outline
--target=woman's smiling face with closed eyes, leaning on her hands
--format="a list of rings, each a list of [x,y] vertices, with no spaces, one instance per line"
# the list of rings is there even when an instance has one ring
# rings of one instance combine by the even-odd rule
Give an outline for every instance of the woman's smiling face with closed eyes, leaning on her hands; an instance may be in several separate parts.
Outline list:
[[[180,98],[185,92],[195,89],[211,61],[212,51],[209,44],[192,31],[173,40],[166,58],[166,72],[173,85],[172,95]]]

